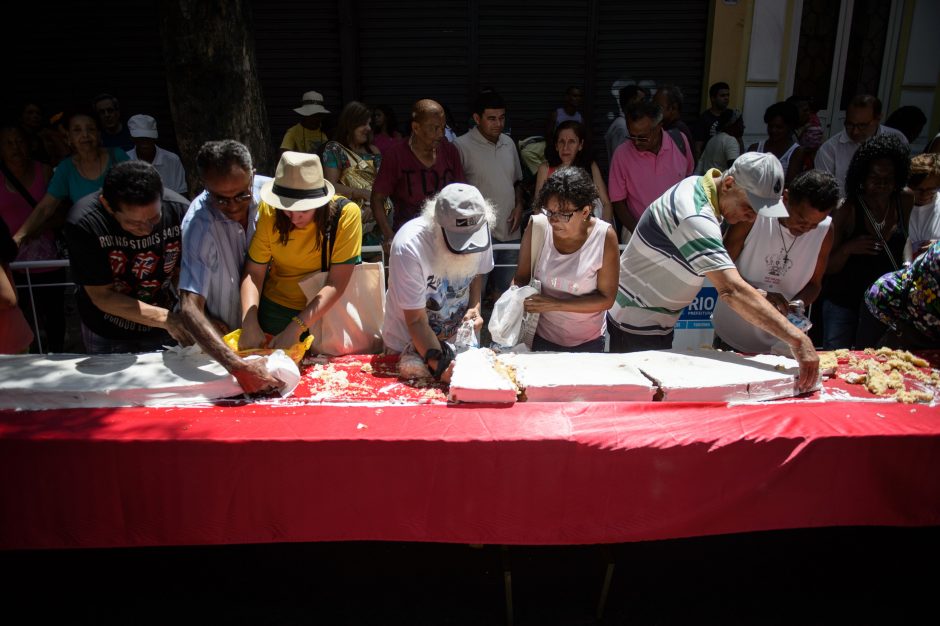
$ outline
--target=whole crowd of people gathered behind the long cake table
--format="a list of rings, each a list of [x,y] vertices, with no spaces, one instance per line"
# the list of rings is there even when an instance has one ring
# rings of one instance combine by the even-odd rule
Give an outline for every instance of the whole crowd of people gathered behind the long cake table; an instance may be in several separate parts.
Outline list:
[[[23,298],[10,264],[67,255],[89,353],[198,343],[247,392],[268,391],[278,382],[263,364],[222,336],[240,328],[246,349],[295,344],[331,315],[369,245],[388,261],[385,349],[443,380],[460,329],[479,334],[484,298],[530,284],[533,350],[670,348],[706,279],[720,296],[716,345],[788,347],[801,389],[818,357],[787,317],[795,307],[817,304],[826,348],[940,345],[940,155],[909,147],[925,120],[914,128],[919,118],[899,109],[904,128],[883,125],[880,101],[860,95],[823,141],[811,100],[794,96],[767,108],[766,138],[745,149],[726,83],[691,126],[675,85],[619,95],[607,172],[571,87],[530,177],[533,155],[505,132],[492,89],[459,136],[430,99],[407,128],[388,107],[352,101],[327,132],[327,103],[308,91],[273,177],[238,141],[210,141],[191,197],[152,116],[124,121],[110,94],[48,124],[26,105],[0,128],[0,352],[27,351],[33,330],[62,349],[66,271],[34,270],[33,284],[58,286]],[[308,297],[299,283],[320,272]]]

